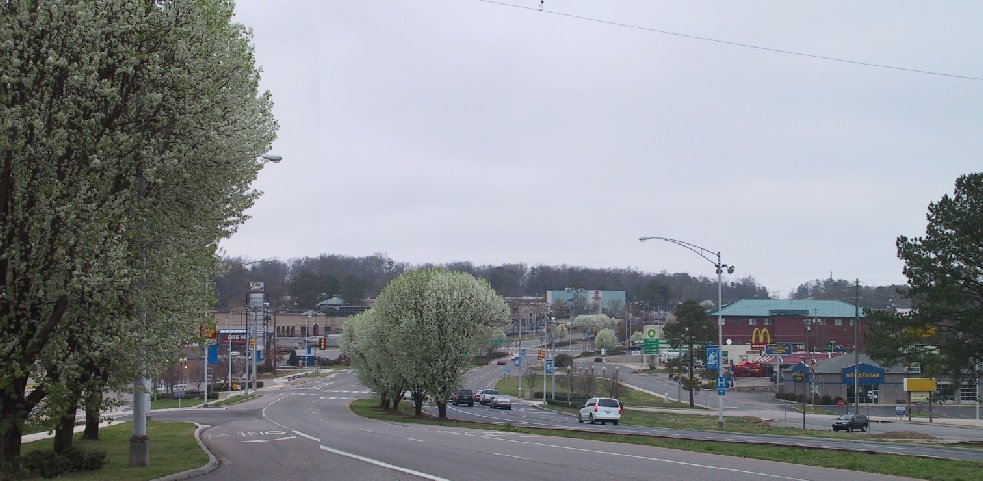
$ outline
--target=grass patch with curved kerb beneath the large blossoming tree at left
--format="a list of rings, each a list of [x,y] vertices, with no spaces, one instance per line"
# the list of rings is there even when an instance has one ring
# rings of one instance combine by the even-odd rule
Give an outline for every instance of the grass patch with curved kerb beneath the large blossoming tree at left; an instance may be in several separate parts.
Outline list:
[[[69,473],[55,479],[113,481],[142,481],[168,474],[187,471],[208,462],[208,455],[198,447],[194,437],[195,425],[191,423],[152,421],[147,425],[150,437],[150,466],[130,467],[130,436],[133,425],[120,423],[99,429],[98,441],[82,441],[75,438],[75,445],[87,450],[106,451],[108,462],[99,471]],[[77,435],[80,436],[80,435]],[[23,453],[38,449],[50,449],[50,440],[24,444]]]

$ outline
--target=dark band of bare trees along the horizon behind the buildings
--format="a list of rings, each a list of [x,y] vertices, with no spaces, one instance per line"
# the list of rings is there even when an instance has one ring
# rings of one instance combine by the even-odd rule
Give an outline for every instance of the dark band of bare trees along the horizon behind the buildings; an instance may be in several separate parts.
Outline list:
[[[290,261],[268,259],[249,261],[241,257],[223,259],[223,270],[215,280],[217,308],[231,309],[245,304],[250,281],[265,283],[272,305],[281,309],[312,309],[332,296],[346,303],[359,304],[375,298],[396,276],[417,268],[442,268],[466,272],[484,279],[505,297],[545,295],[547,290],[580,287],[626,291],[628,301],[644,310],[673,311],[687,299],[710,300],[716,304],[717,279],[693,277],[685,273],[644,273],[634,269],[590,268],[527,264],[474,265],[470,262],[412,265],[396,262],[385,254],[364,257],[322,254]],[[885,309],[910,304],[899,291],[902,286],[862,286],[862,307]],[[853,303],[854,286],[844,279],[817,279],[801,284],[791,299],[833,299]],[[753,277],[744,277],[722,286],[724,304],[738,299],[767,299],[769,291]]]

